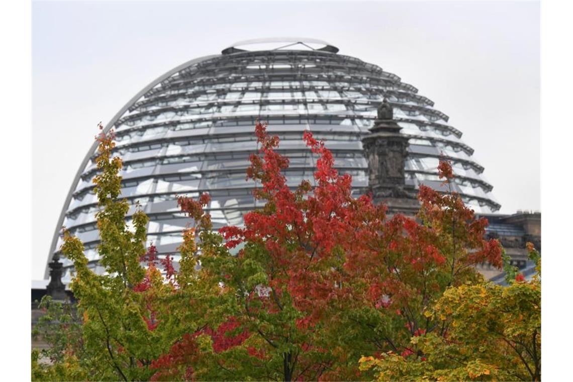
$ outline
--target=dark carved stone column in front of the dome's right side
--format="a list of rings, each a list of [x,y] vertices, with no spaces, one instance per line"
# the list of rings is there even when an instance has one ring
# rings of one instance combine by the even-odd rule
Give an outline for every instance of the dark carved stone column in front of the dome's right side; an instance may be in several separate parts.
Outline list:
[[[393,109],[384,99],[378,107],[378,118],[370,134],[362,139],[368,161],[368,187],[374,202],[383,202],[390,214],[413,215],[419,203],[413,186],[406,186],[404,167],[409,137],[402,134],[394,121]]]

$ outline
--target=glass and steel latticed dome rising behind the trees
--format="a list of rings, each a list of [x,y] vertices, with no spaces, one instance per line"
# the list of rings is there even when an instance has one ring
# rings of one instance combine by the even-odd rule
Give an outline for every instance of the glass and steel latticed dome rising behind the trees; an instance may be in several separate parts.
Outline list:
[[[249,154],[257,150],[257,118],[268,121],[269,131],[281,139],[280,152],[290,159],[289,184],[312,182],[315,158],[301,139],[309,129],[327,142],[336,168],[352,175],[356,195],[365,192],[361,139],[384,97],[402,133],[411,137],[406,184],[441,190],[437,166],[445,156],[457,176],[454,191],[478,213],[499,210],[492,186],[481,175],[484,168],[448,116],[397,75],[337,52],[318,40],[245,41],[163,74],[113,117],[105,130],[115,129],[116,151],[124,160],[121,195],[132,204],[130,213],[139,201],[150,216],[148,240],[159,254],[176,258],[181,231],[189,223],[176,206],[176,195],[209,192],[215,228],[241,225],[242,215],[255,207],[254,183],[245,180],[245,170]],[[95,152],[94,144],[74,180],[48,261],[60,248],[60,227],[65,226],[85,243],[97,267]],[[64,266],[69,269],[69,261]]]

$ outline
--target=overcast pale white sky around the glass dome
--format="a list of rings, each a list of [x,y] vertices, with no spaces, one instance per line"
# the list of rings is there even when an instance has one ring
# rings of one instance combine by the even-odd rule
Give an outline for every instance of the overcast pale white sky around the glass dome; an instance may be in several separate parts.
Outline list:
[[[33,2],[33,279],[96,124],[191,58],[311,37],[434,101],[502,213],[540,210],[538,2]],[[58,227],[59,228],[59,227]]]

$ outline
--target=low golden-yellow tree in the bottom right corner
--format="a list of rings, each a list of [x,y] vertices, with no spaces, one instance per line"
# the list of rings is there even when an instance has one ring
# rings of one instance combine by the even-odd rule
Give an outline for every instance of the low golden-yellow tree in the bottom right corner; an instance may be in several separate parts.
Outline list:
[[[378,380],[541,380],[541,268],[528,243],[537,274],[517,273],[503,287],[490,282],[450,287],[429,314],[444,335],[411,338],[421,357],[386,353],[362,357],[360,368]],[[508,264],[507,264],[508,265]]]

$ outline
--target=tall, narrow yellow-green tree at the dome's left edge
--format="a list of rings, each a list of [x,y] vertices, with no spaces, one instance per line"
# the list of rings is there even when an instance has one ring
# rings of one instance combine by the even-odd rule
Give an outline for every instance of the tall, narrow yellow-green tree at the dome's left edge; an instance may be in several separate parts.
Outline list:
[[[101,124],[100,129],[103,129]],[[51,330],[45,326],[43,336],[52,348],[44,355],[52,360],[51,370],[43,367],[44,377],[53,376],[62,364],[74,360],[82,376],[93,380],[146,380],[154,371],[151,361],[166,352],[174,339],[171,330],[154,329],[166,315],[167,305],[158,301],[167,296],[173,286],[163,282],[163,277],[150,262],[146,270],[140,263],[146,257],[147,216],[135,207],[131,219],[127,200],[120,199],[121,159],[112,156],[113,131],[96,137],[99,141],[95,176],[95,194],[100,210],[96,213],[100,233],[100,264],[105,274],[98,275],[88,267],[83,243],[64,229],[62,253],[74,263],[76,272],[71,285],[77,304],[77,317],[64,315],[60,305],[50,305],[49,312],[57,317],[45,316],[52,322]],[[148,255],[152,255],[154,247]],[[66,308],[68,309],[68,308]],[[66,323],[61,325],[62,317]],[[77,328],[77,321],[81,321]],[[58,335],[72,326],[73,341],[59,344]],[[42,327],[38,328],[42,329]],[[55,335],[54,335],[55,334]],[[65,347],[65,349],[64,349]],[[65,367],[64,367],[65,368]],[[42,378],[38,373],[37,377]]]

